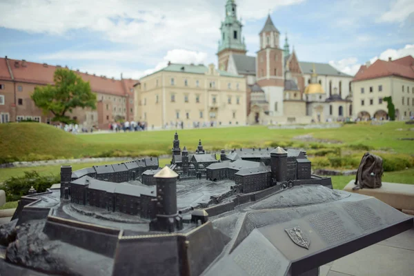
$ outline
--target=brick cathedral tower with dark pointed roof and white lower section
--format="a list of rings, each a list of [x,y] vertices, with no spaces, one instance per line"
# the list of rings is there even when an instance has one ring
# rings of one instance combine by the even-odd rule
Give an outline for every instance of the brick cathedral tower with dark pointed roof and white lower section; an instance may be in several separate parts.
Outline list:
[[[256,59],[257,84],[264,90],[270,115],[282,116],[284,92],[284,50],[279,48],[279,31],[270,14],[259,33],[260,50]]]

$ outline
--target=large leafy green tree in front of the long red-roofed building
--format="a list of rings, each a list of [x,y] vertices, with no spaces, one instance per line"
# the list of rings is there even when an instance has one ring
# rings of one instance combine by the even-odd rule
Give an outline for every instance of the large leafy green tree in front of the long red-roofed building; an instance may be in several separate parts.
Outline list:
[[[34,104],[47,115],[52,112],[55,117],[52,121],[64,124],[74,124],[66,112],[72,112],[77,107],[96,109],[97,96],[90,90],[89,81],[75,74],[75,72],[59,68],[53,76],[54,86],[37,86],[31,96]]]

